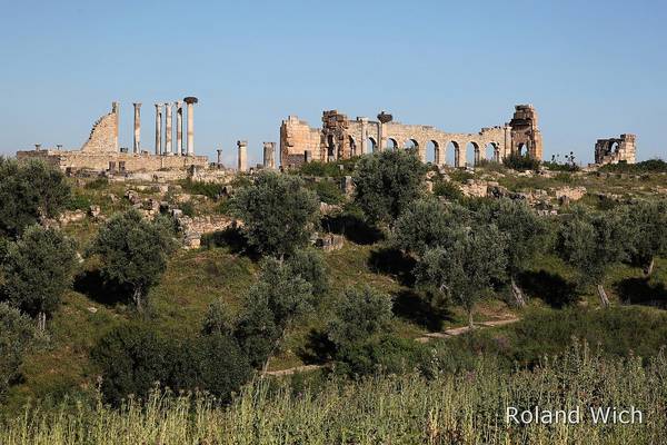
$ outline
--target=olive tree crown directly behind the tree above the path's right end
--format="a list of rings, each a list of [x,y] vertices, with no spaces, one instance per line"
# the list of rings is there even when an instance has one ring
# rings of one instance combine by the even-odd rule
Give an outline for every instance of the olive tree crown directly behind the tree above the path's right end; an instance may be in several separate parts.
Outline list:
[[[447,243],[452,225],[470,221],[470,211],[458,204],[445,205],[436,198],[411,202],[398,217],[392,244],[421,257],[429,248]]]

